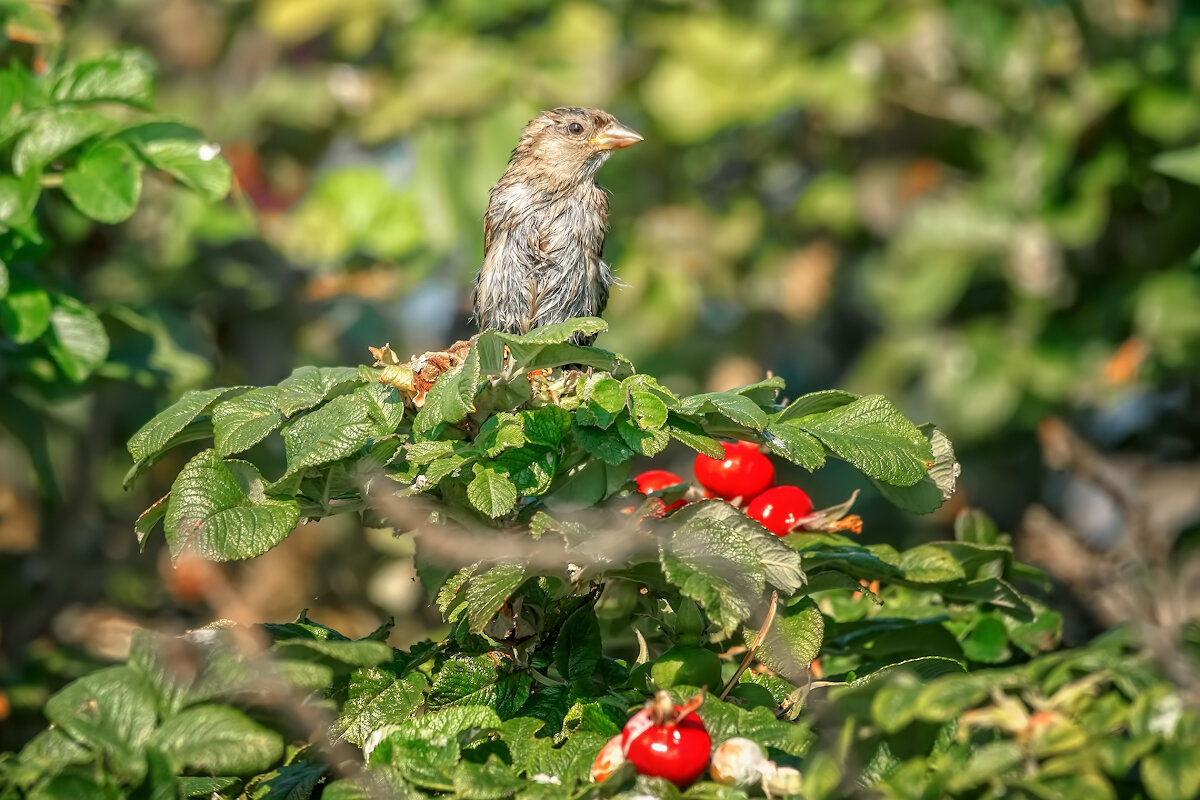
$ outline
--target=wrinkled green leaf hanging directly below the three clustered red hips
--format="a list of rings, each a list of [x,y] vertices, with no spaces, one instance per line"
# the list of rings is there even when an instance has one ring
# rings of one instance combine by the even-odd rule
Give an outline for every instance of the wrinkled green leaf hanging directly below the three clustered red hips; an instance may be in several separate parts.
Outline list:
[[[739,530],[725,522],[684,523],[659,560],[667,581],[700,603],[722,630],[732,631],[742,624],[762,597],[762,563]]]

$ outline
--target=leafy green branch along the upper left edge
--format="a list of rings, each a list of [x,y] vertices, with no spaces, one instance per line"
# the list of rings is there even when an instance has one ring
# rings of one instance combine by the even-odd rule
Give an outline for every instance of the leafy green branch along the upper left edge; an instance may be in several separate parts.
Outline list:
[[[10,25],[22,18],[8,13],[17,14]],[[127,219],[146,169],[208,200],[229,192],[230,170],[216,145],[149,113],[154,70],[146,53],[125,48],[37,72],[13,61],[0,72],[0,326],[8,342],[0,369],[10,389],[0,422],[25,445],[52,494],[58,481],[42,409],[103,373],[110,342],[102,315],[138,319],[128,307],[88,305],[49,269],[67,249],[59,241],[64,227]]]

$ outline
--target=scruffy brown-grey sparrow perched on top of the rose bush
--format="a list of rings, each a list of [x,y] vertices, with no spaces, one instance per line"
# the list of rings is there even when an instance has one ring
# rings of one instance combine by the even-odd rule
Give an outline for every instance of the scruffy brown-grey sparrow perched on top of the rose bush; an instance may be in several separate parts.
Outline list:
[[[604,312],[614,277],[601,258],[608,196],[594,179],[613,151],[641,140],[596,108],[554,108],[524,126],[484,213],[473,303],[481,331],[528,333]]]

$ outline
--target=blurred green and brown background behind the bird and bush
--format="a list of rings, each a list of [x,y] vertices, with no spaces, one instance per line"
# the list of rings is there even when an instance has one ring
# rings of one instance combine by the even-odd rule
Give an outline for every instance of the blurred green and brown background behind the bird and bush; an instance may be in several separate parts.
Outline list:
[[[793,397],[883,392],[954,440],[947,509],[914,519],[868,491],[869,539],[940,535],[968,503],[1019,528],[1058,491],[1036,438],[1049,416],[1152,465],[1198,459],[1200,187],[1180,180],[1200,181],[1196,4],[34,5],[68,55],[151,53],[157,106],[220,143],[236,186],[209,205],[148,176],[115,227],[40,207],[59,242],[42,269],[101,314],[112,349],[86,381],[29,401],[58,498],[0,435],[14,718],[122,655],[132,626],[211,616],[161,542],[139,554],[132,534],[186,453],[125,492],[125,440],[187,389],[468,336],[488,188],[524,122],[559,104],[646,139],[599,175],[628,284],[600,347],[679,392],[766,371]],[[690,476],[684,451],[659,465]],[[859,480],[786,477],[818,506]],[[1200,479],[1182,491],[1200,497]],[[254,619],[310,607],[362,634],[396,614],[402,644],[436,621],[406,547],[334,519],[226,572]]]

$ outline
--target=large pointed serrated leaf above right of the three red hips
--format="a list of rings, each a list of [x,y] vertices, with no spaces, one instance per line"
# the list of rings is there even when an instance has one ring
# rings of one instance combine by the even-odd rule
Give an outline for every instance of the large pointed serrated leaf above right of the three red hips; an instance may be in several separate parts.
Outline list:
[[[839,458],[886,483],[916,483],[926,475],[925,464],[934,462],[929,440],[881,395],[799,417],[797,425]]]

